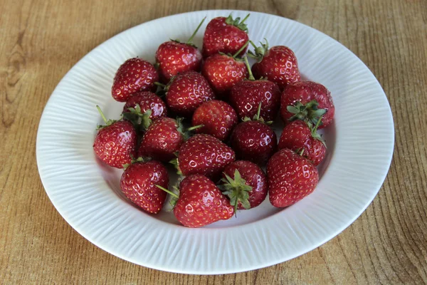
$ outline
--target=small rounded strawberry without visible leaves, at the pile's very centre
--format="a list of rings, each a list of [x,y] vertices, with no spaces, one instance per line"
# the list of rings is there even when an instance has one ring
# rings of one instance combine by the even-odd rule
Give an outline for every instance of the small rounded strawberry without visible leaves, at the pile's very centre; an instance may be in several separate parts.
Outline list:
[[[191,125],[203,125],[196,133],[213,135],[218,140],[226,140],[237,124],[236,111],[231,105],[220,101],[205,102],[196,109]]]

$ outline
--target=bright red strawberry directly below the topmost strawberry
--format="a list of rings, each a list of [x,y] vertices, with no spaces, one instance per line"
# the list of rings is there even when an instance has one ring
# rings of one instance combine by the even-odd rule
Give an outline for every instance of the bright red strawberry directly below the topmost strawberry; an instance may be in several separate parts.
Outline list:
[[[248,68],[243,61],[218,53],[206,58],[201,74],[208,80],[216,95],[226,99],[231,88],[248,77]]]

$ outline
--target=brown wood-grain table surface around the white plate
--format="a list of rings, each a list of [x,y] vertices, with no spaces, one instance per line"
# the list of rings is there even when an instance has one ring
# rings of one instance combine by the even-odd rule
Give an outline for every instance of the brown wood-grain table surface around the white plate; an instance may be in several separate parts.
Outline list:
[[[427,109],[427,1],[89,2],[0,1],[1,284],[427,281],[427,115],[423,110]],[[396,125],[389,175],[374,202],[352,226],[302,257],[241,274],[170,274],[113,257],[60,217],[46,196],[36,166],[36,133],[44,105],[80,58],[127,28],[202,9],[278,14],[332,36],[378,78]]]

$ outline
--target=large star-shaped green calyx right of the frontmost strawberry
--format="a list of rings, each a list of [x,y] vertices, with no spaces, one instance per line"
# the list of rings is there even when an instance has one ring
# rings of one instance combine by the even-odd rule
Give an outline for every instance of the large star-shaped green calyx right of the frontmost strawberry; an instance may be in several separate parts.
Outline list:
[[[223,190],[223,195],[227,195],[230,198],[230,204],[234,207],[234,213],[237,212],[238,203],[240,202],[245,209],[251,209],[249,203],[249,192],[252,191],[252,187],[246,185],[246,180],[241,177],[238,170],[234,171],[234,178],[226,175],[226,178],[221,179],[223,184],[218,187]]]

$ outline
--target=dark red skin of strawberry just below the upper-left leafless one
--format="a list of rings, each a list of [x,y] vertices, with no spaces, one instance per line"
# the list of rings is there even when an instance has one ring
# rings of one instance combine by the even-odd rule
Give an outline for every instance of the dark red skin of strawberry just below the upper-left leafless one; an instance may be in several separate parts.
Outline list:
[[[136,108],[137,104],[141,108],[141,113],[152,110],[149,116],[152,120],[167,116],[166,104],[159,96],[152,92],[144,91],[132,95],[132,97],[126,101],[125,106],[123,106],[123,113],[127,112],[128,108]]]

